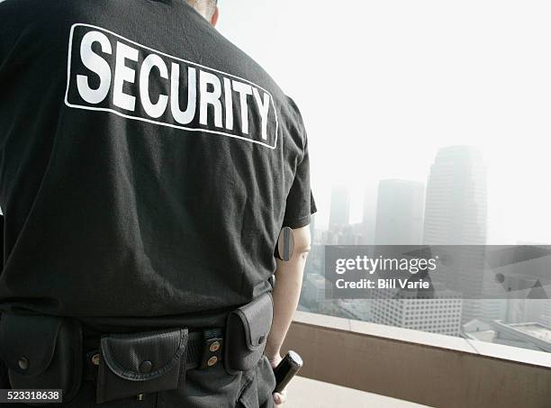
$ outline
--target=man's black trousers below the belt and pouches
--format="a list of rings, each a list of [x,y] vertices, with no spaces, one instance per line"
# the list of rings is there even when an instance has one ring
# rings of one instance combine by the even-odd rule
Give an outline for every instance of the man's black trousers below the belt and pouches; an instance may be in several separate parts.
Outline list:
[[[5,367],[0,372],[0,387],[10,388]],[[95,381],[84,380],[68,408],[272,408],[272,390],[276,378],[266,357],[255,368],[230,376],[221,364],[206,369],[193,369],[185,374],[180,389],[145,394],[108,403],[95,403]],[[23,403],[0,403],[1,407],[25,407]],[[47,406],[56,406],[55,403]]]

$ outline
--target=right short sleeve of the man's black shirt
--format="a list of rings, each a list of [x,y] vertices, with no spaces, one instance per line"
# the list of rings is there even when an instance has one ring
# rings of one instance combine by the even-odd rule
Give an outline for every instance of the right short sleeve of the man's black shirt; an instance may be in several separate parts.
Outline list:
[[[296,106],[296,105],[295,105]],[[298,112],[298,109],[297,109]],[[304,130],[302,118],[298,113],[300,127],[303,131],[303,156],[299,161],[294,175],[293,185],[287,195],[285,204],[284,227],[301,228],[312,221],[312,214],[317,212],[316,203],[310,186],[310,155],[308,138]]]

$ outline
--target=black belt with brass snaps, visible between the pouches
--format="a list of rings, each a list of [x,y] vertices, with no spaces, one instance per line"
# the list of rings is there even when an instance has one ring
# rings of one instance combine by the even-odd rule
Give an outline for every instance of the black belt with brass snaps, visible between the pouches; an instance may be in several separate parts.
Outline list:
[[[187,338],[185,370],[204,369],[221,364],[222,352],[222,329],[190,331]],[[99,348],[86,352],[83,379],[95,380],[99,364]]]

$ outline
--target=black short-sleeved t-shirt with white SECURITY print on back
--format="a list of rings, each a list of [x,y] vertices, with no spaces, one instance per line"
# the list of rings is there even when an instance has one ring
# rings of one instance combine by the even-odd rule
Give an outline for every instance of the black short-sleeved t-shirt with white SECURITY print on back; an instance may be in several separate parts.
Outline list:
[[[2,308],[70,316],[244,304],[315,212],[296,105],[184,0],[0,4],[0,206]]]

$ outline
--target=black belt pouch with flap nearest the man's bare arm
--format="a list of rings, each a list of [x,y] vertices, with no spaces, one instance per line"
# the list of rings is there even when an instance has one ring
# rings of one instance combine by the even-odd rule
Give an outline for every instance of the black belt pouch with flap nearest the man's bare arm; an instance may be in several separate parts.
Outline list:
[[[224,366],[230,374],[255,367],[266,348],[274,319],[272,294],[258,296],[228,315]]]

